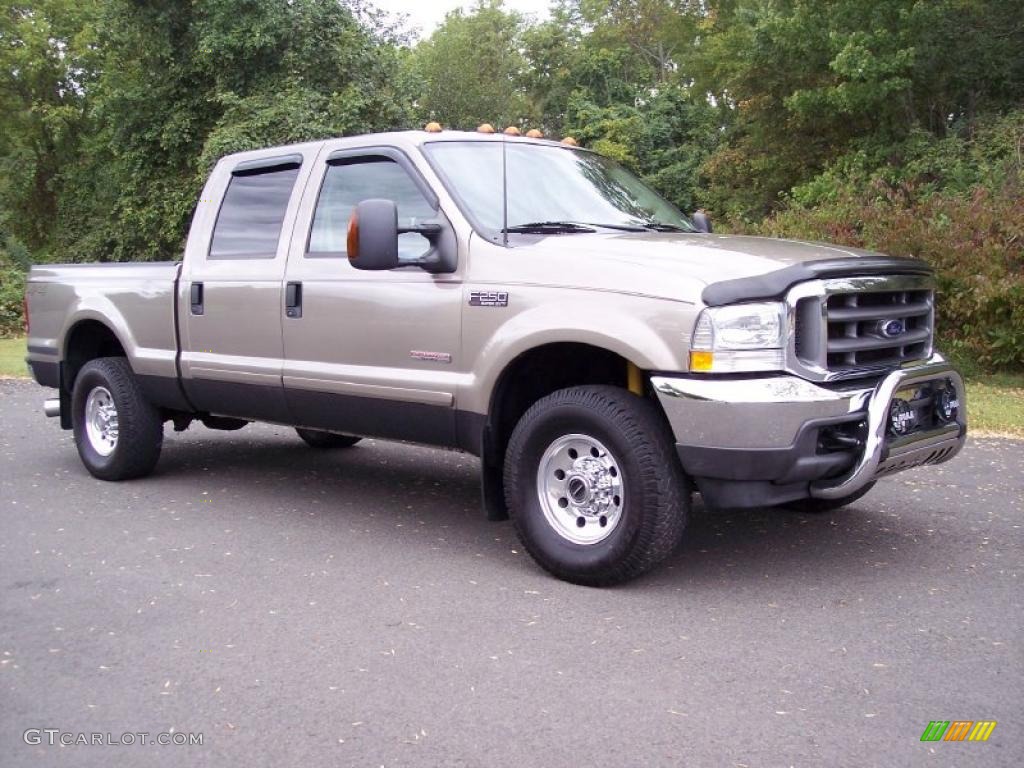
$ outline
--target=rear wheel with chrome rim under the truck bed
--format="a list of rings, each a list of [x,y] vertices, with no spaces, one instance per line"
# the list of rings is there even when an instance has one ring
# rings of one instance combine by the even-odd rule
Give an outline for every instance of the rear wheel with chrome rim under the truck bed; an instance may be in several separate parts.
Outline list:
[[[164,420],[142,395],[128,360],[86,362],[75,380],[71,408],[78,455],[93,476],[127,480],[153,471],[164,443]]]

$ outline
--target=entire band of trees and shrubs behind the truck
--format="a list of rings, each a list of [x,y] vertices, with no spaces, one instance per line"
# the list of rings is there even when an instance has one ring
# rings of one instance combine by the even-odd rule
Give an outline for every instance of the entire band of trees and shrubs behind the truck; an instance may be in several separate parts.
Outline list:
[[[921,255],[953,351],[1024,367],[1022,50],[1006,0],[476,0],[416,44],[368,0],[8,4],[0,333],[30,261],[175,258],[226,153],[435,119],[574,135],[720,230]]]

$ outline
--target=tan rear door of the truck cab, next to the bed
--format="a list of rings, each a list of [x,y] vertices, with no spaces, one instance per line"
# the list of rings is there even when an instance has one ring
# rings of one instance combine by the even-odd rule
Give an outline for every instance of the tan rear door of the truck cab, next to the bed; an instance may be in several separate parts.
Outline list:
[[[204,189],[178,294],[182,384],[199,411],[290,420],[282,282],[317,150],[222,163]]]

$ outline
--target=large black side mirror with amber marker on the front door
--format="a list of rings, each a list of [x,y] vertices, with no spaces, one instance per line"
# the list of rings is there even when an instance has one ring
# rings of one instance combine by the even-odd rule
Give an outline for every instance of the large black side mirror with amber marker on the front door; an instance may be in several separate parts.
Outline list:
[[[398,236],[407,232],[422,234],[430,242],[430,250],[415,261],[398,258]],[[398,207],[393,201],[364,200],[348,220],[348,260],[356,269],[418,266],[428,272],[451,272],[455,270],[454,264],[449,264],[437,248],[442,233],[443,227],[435,221],[399,227]]]

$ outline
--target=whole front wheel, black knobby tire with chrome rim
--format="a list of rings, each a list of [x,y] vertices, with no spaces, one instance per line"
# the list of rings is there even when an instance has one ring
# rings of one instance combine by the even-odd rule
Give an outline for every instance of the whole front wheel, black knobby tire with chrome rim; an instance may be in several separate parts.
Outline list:
[[[532,558],[574,584],[634,579],[682,540],[690,488],[668,426],[616,387],[562,389],[519,420],[505,494]]]

